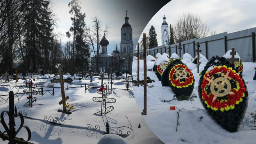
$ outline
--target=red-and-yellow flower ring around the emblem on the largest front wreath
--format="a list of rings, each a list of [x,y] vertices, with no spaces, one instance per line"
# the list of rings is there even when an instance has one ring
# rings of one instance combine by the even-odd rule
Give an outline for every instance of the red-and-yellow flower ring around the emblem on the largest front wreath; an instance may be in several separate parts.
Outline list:
[[[228,94],[228,100],[220,100],[217,98],[216,100],[213,100],[214,95],[212,93],[207,94],[206,87],[209,83],[208,80],[205,79],[205,77],[212,79],[212,76],[216,73],[218,74],[226,74],[230,70],[228,76],[231,79],[234,79],[236,81],[236,88],[231,89],[230,92],[233,92],[234,94]],[[231,80],[229,79],[229,80]],[[204,103],[207,104],[208,108],[212,108],[212,110],[220,110],[220,111],[228,111],[229,109],[234,109],[235,105],[239,104],[239,102],[243,101],[245,87],[244,82],[242,81],[241,77],[236,73],[235,70],[232,70],[232,68],[227,68],[226,66],[219,66],[213,68],[210,72],[206,72],[204,75],[203,83],[201,85],[202,89],[202,98],[204,100]]]

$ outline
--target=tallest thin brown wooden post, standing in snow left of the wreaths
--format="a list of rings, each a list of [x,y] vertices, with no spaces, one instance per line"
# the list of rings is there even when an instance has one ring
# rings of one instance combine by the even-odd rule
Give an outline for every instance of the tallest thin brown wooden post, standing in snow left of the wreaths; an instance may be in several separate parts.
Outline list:
[[[143,34],[143,60],[144,60],[144,111],[147,115],[147,57],[146,57],[146,34]]]

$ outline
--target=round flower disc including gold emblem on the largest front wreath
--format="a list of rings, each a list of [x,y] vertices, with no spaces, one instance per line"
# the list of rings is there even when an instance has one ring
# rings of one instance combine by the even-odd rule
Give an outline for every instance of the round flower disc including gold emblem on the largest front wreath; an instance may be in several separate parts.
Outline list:
[[[225,65],[207,71],[201,88],[202,99],[207,107],[221,112],[234,109],[243,101],[246,91],[239,74]]]

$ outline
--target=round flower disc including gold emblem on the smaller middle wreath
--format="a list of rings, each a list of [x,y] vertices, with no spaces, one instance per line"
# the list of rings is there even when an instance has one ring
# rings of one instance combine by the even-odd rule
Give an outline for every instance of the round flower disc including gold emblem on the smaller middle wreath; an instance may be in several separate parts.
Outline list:
[[[176,88],[186,88],[194,83],[194,76],[187,66],[178,64],[171,69],[169,80]]]

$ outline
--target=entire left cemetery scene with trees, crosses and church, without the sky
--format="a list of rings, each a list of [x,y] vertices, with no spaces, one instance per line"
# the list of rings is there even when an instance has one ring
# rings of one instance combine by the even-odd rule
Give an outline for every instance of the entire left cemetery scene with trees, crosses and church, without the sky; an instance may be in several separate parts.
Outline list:
[[[108,53],[109,27],[96,16],[86,25],[80,4],[64,4],[72,25],[63,43],[52,1],[0,1],[0,143],[163,144],[132,91],[128,11]]]

